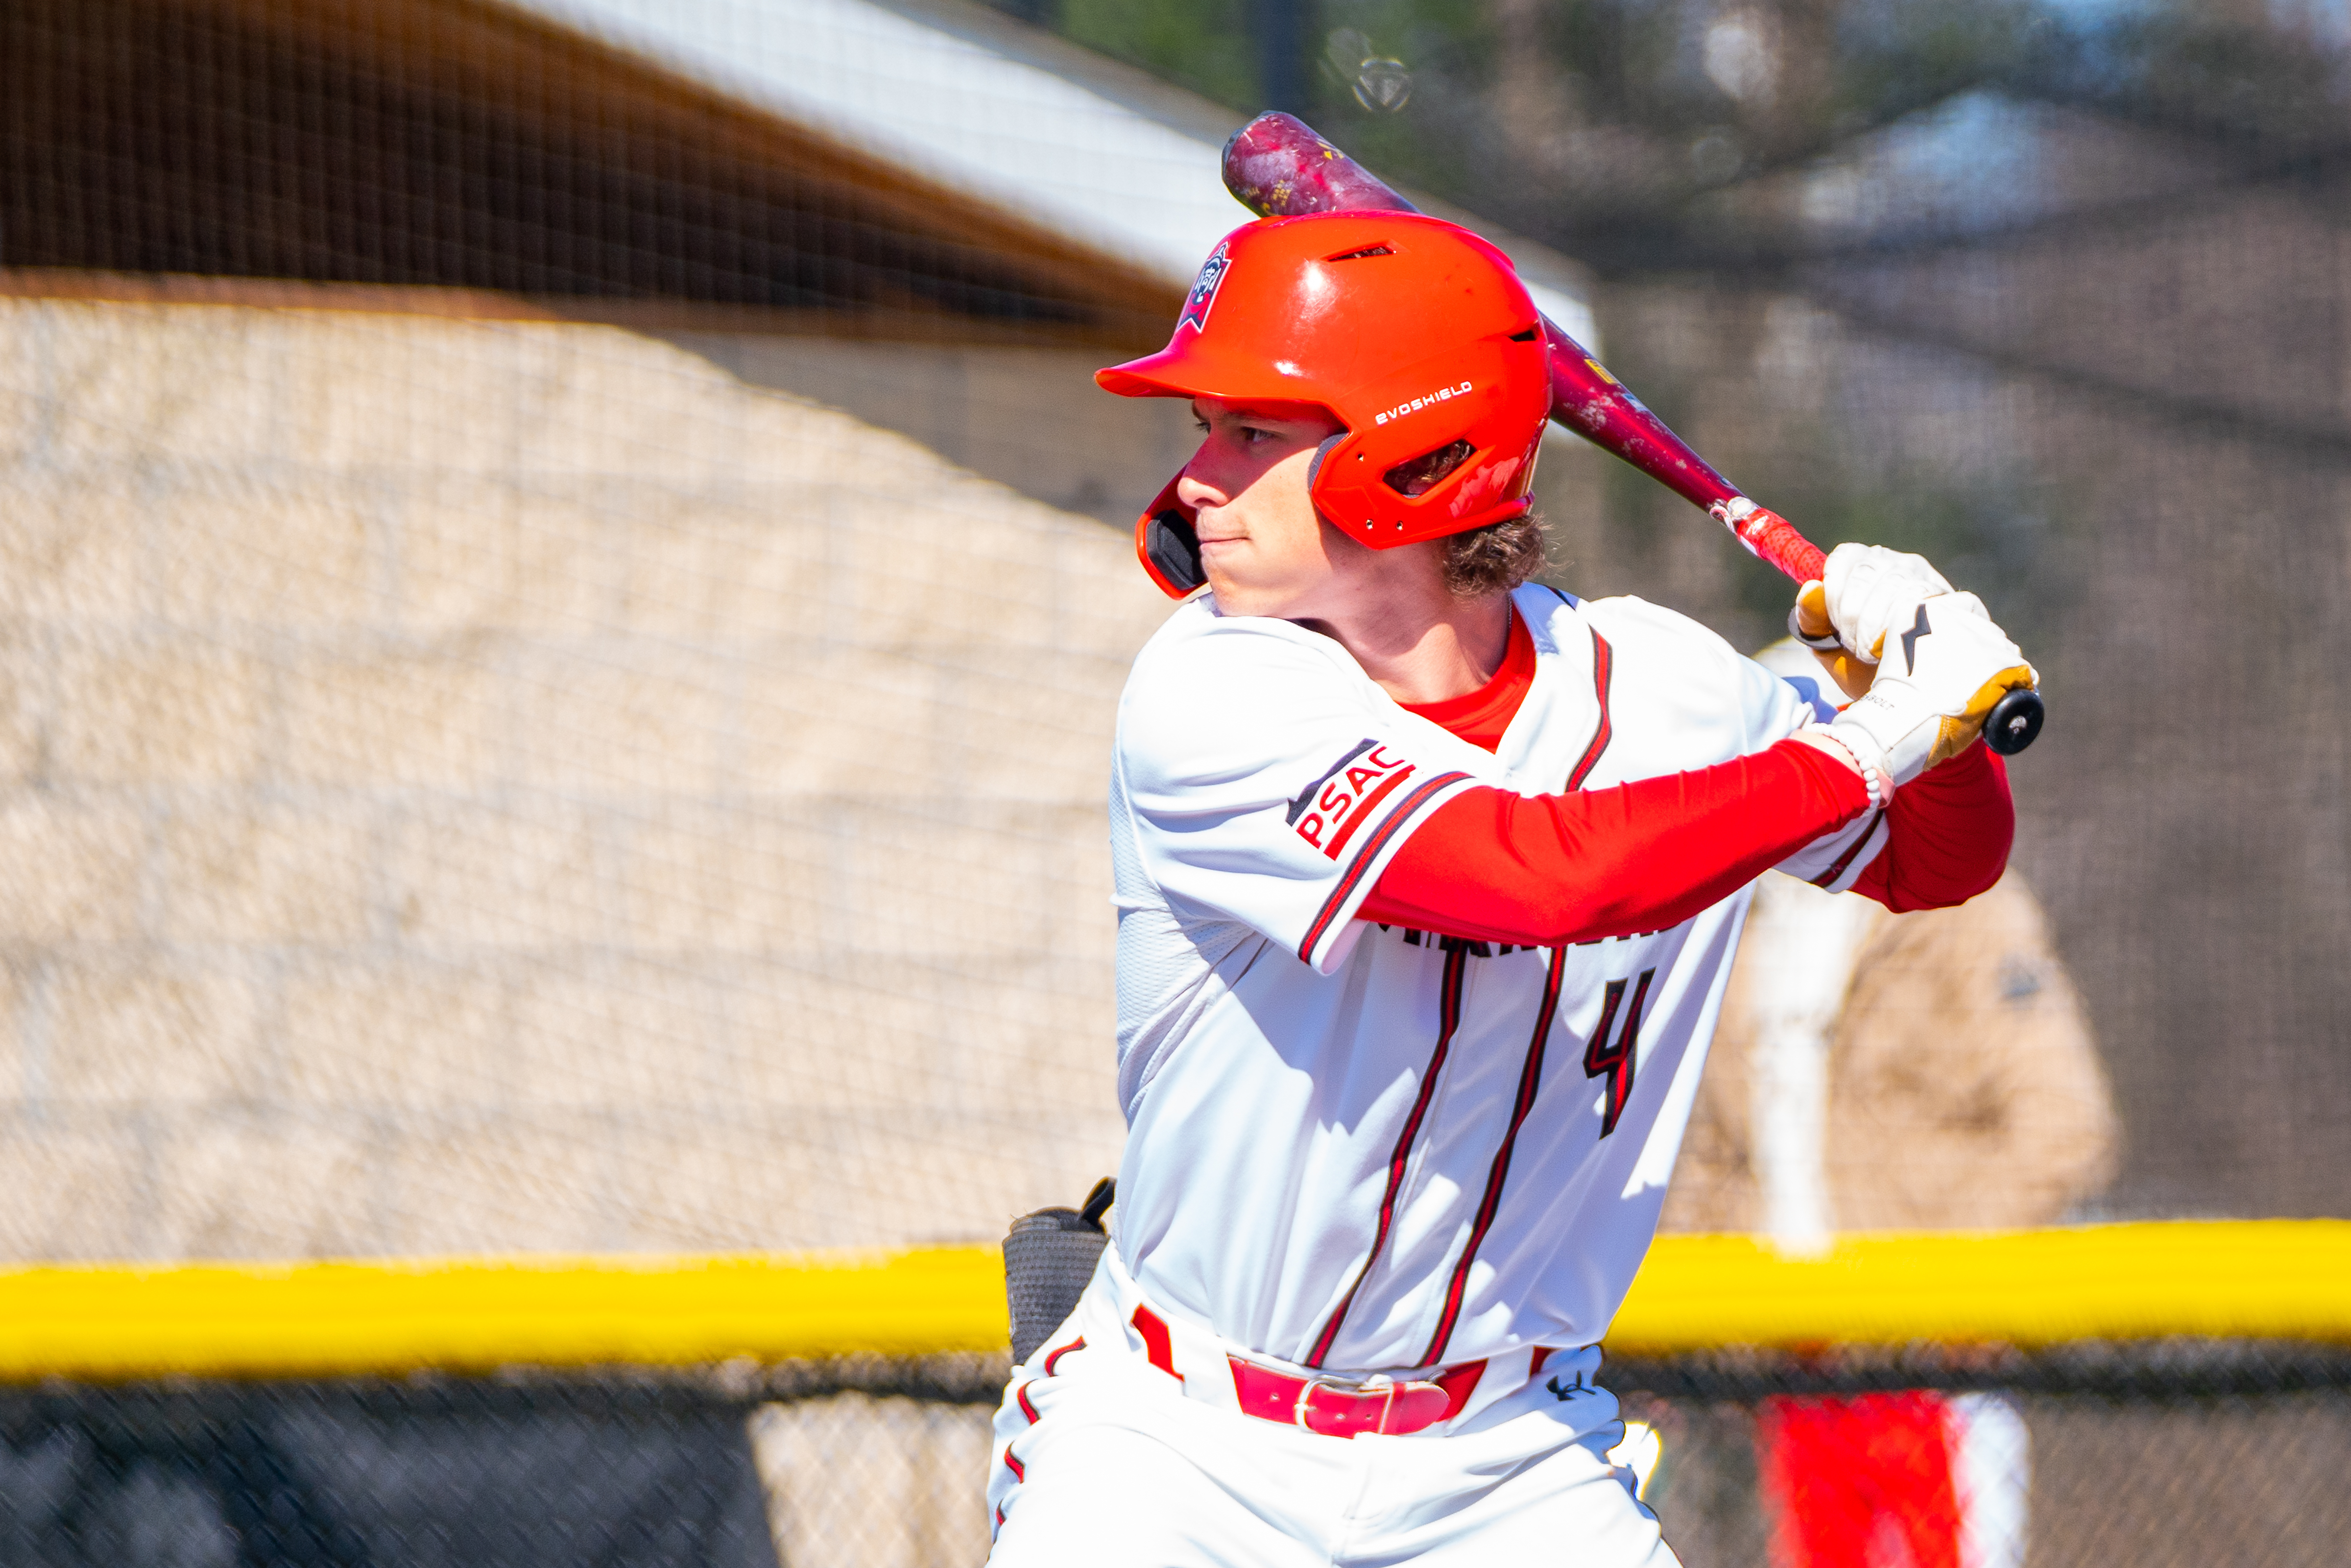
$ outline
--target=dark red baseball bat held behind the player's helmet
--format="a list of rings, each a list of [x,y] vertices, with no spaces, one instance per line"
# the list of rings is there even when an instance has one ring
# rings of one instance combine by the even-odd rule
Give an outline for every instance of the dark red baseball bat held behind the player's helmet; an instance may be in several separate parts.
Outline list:
[[[1258,115],[1232,134],[1225,143],[1225,190],[1260,219],[1420,212],[1305,120],[1284,113]],[[1820,581],[1827,555],[1796,524],[1742,496],[1549,317],[1542,320],[1542,336],[1552,350],[1552,418],[1712,515],[1749,555],[1796,583]],[[2034,743],[2043,717],[2041,693],[2017,686],[1984,719],[1984,745],[2012,757]]]

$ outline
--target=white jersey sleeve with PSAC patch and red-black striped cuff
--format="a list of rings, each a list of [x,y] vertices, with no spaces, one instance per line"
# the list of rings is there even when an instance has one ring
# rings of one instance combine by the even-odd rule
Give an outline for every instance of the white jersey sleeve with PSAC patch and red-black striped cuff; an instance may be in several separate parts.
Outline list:
[[[1234,618],[1138,663],[1112,830],[1178,917],[1241,922],[1331,973],[1380,870],[1472,785],[1310,632]]]

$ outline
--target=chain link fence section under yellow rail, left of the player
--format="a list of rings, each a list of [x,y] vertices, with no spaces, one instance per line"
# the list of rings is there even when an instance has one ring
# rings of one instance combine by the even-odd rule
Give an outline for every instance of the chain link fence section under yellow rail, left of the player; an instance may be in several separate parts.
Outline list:
[[[0,1394],[0,1563],[976,1563],[1002,1356]]]

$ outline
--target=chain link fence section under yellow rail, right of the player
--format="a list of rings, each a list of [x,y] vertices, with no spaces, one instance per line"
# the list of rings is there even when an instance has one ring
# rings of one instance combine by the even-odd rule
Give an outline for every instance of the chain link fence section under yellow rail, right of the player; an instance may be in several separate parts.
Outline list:
[[[2327,1563],[2351,1356],[2257,1340],[1615,1361],[1690,1568]]]

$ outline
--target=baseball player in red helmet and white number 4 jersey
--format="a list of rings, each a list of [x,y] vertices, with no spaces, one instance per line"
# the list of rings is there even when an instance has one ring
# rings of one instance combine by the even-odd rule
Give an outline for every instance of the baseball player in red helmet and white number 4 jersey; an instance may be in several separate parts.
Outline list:
[[[1248,223],[1166,350],[1098,381],[1199,416],[1138,522],[1187,602],[1112,759],[1112,1244],[1013,1371],[992,1561],[1672,1563],[1606,1458],[1596,1342],[1747,886],[1989,886],[2012,816],[1975,738],[2031,670],[1860,545],[1824,578],[1874,661],[1843,710],[1528,583],[1538,313],[1436,219]]]

